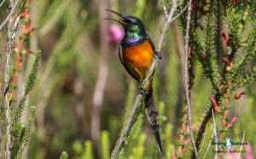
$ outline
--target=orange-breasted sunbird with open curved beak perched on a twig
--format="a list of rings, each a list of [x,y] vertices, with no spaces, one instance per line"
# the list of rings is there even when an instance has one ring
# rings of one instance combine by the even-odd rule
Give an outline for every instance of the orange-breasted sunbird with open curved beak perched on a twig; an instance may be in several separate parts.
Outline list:
[[[119,14],[118,12],[110,9],[106,9],[106,11],[117,14],[121,18],[121,20],[113,18],[106,18],[105,20],[118,21],[125,30],[125,36],[118,47],[119,60],[125,67],[125,70],[131,75],[131,77],[139,82],[141,86],[143,80],[146,78],[148,69],[152,64],[154,57],[156,56],[160,58],[160,54],[155,51],[154,43],[148,36],[142,20],[135,16]],[[159,111],[153,96],[152,82],[153,78],[150,78],[146,88],[141,88],[140,90],[145,93],[145,111],[154,133],[157,148],[160,154],[163,154],[160,139],[160,126],[158,122]]]

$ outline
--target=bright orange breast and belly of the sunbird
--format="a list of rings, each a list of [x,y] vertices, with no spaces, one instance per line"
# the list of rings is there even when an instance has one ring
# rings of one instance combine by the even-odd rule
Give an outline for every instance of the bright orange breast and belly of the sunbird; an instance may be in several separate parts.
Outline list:
[[[131,46],[130,48],[123,48],[123,56],[125,65],[134,77],[137,77],[139,82],[145,78],[145,74],[154,59],[153,49],[148,42]]]

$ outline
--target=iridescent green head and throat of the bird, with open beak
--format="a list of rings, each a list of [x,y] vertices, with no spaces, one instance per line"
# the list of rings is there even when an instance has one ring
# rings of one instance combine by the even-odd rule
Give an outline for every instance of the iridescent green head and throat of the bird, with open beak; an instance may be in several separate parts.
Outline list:
[[[134,45],[138,43],[143,43],[143,41],[147,38],[147,33],[145,31],[145,26],[143,25],[143,21],[138,19],[135,16],[125,16],[119,14],[113,10],[107,9],[107,11],[112,12],[114,14],[118,14],[122,20],[116,20],[112,18],[108,18],[106,20],[116,20],[119,22],[121,26],[123,26],[125,30],[125,37],[123,38],[121,44],[125,43],[126,45]],[[122,44],[122,45],[123,45]]]

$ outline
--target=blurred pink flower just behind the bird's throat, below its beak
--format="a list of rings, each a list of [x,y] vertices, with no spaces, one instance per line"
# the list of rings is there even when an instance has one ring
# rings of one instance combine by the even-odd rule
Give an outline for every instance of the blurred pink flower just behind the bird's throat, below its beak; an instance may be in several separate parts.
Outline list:
[[[108,43],[117,44],[122,40],[124,35],[125,35],[125,31],[123,30],[123,28],[113,24],[109,26]]]

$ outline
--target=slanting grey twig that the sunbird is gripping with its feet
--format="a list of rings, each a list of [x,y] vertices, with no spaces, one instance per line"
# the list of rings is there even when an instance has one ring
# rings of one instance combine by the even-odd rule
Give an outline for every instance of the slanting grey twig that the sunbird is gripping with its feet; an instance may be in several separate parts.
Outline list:
[[[161,51],[164,39],[166,37],[166,31],[168,30],[168,28],[171,25],[172,17],[173,17],[173,14],[174,14],[176,8],[177,8],[177,0],[173,0],[172,1],[172,9],[170,10],[168,16],[166,17],[166,24],[165,24],[164,30],[161,33],[160,41],[158,43],[158,48],[155,50],[158,53],[160,53],[160,51]],[[149,79],[150,79],[150,77],[152,77],[152,74],[154,72],[154,67],[157,64],[157,61],[158,61],[158,58],[154,57],[154,60],[152,61],[152,64],[150,65],[150,67],[148,69],[148,74],[143,82],[143,88],[147,87]],[[123,144],[123,142],[125,140],[125,136],[127,135],[128,131],[131,127],[131,122],[132,122],[133,116],[136,113],[137,106],[139,105],[139,103],[141,102],[142,99],[143,99],[143,94],[138,94],[137,98],[132,106],[131,113],[130,113],[130,116],[128,117],[125,128],[123,128],[121,136],[119,137],[117,144],[115,145],[115,147],[113,149],[113,153],[111,156],[112,159],[116,158],[116,156],[118,155],[121,145]]]

